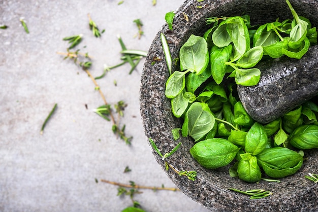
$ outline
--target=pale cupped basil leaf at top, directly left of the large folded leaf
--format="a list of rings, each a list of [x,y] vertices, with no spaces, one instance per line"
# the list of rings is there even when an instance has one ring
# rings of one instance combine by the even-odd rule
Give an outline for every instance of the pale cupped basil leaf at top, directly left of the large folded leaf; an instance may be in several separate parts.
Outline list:
[[[227,31],[227,24],[225,23],[225,21],[222,21],[212,34],[212,41],[214,45],[219,48],[229,46],[229,44],[232,42],[232,39]]]

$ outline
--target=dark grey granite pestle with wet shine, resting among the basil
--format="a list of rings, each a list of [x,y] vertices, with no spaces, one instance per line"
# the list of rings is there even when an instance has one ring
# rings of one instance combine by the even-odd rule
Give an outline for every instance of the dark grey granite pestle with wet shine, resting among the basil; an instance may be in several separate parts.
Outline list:
[[[261,79],[256,86],[237,86],[247,113],[266,124],[318,93],[318,46],[300,59],[280,57],[260,62]]]

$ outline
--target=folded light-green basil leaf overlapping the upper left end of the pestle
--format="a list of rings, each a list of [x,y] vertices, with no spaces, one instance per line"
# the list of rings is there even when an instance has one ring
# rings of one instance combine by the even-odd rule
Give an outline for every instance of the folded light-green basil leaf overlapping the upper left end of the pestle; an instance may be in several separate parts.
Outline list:
[[[254,86],[257,85],[261,78],[261,71],[258,68],[236,69],[235,82],[238,85]]]

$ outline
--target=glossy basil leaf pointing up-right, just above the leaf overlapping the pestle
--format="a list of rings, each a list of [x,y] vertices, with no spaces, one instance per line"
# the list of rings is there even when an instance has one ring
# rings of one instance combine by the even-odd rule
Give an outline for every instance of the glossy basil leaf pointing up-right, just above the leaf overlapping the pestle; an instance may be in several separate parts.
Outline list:
[[[255,66],[263,57],[263,48],[257,46],[248,50],[236,64],[242,68],[251,68]]]

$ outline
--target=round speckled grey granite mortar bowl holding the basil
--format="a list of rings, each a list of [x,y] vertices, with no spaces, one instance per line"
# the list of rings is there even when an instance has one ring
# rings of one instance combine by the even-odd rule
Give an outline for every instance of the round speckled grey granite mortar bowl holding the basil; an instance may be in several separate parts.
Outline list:
[[[318,1],[290,1],[296,12],[311,20],[313,26],[318,26]],[[202,6],[202,8],[197,8]],[[173,30],[164,24],[156,34],[149,49],[141,78],[140,107],[145,134],[152,138],[160,151],[165,154],[171,151],[179,142],[181,147],[171,157],[167,158],[178,170],[195,170],[198,172],[195,181],[179,176],[171,168],[167,171],[165,162],[153,151],[153,155],[167,173],[169,178],[188,197],[213,211],[318,211],[318,185],[305,179],[310,173],[318,173],[318,151],[305,151],[302,168],[295,174],[281,179],[281,183],[261,181],[259,184],[245,183],[229,175],[230,165],[208,170],[200,166],[190,155],[189,149],[194,145],[190,138],[180,137],[174,140],[171,130],[181,128],[182,122],[171,112],[170,100],[165,96],[165,83],[169,77],[168,68],[160,40],[163,32],[169,43],[172,58],[179,57],[179,49],[191,34],[203,36],[211,27],[206,25],[205,18],[220,16],[250,15],[251,23],[263,24],[292,18],[291,12],[284,0],[197,0],[186,1],[178,10],[173,21]],[[188,21],[184,19],[188,16]],[[164,21],[163,21],[164,22]],[[154,57],[162,60],[151,65]],[[173,71],[179,67],[173,65]],[[248,196],[228,190],[265,189],[273,195],[267,198],[250,200]]]

